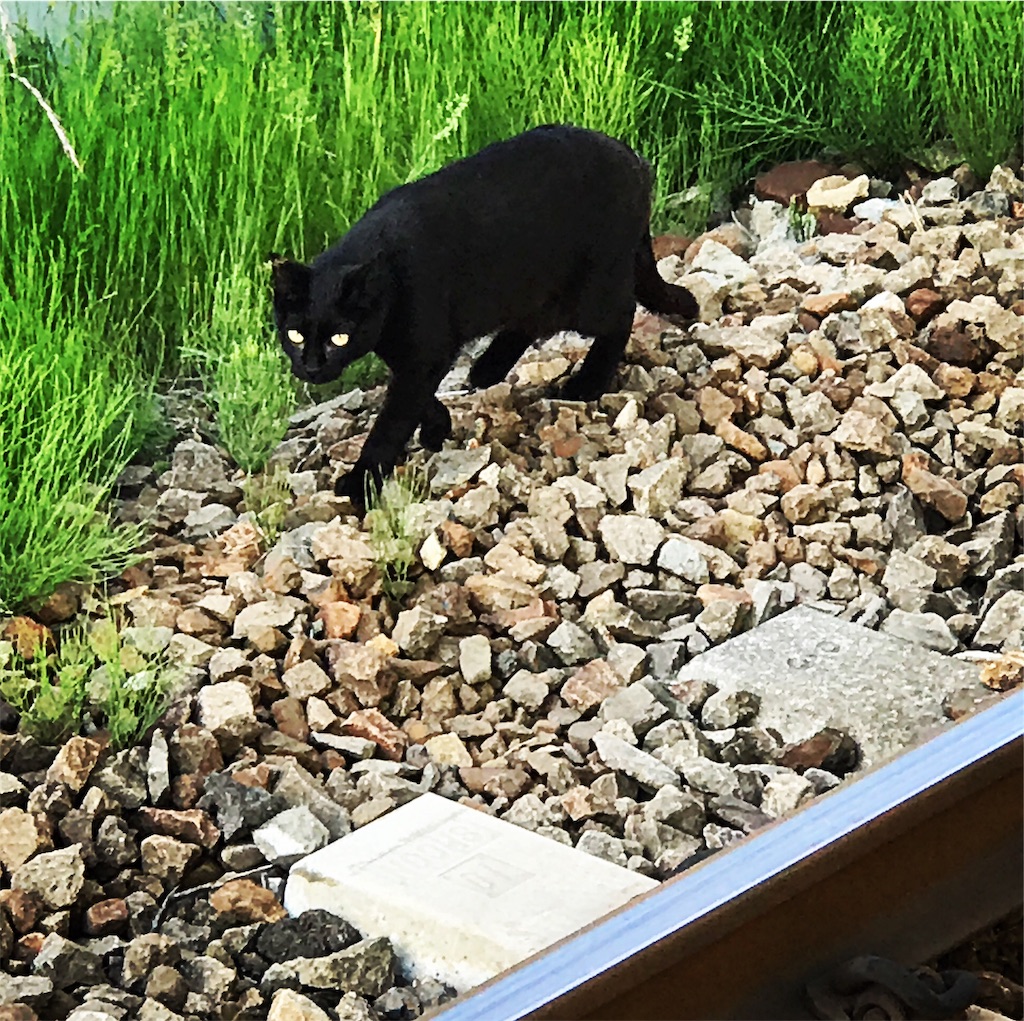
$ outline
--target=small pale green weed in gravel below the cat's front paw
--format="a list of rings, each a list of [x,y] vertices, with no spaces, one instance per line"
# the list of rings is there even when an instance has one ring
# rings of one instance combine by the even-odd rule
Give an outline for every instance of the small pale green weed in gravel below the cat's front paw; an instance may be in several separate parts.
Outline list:
[[[413,587],[409,571],[422,538],[415,523],[415,508],[426,495],[426,477],[410,466],[385,479],[380,487],[367,480],[370,545],[377,558],[381,588],[392,602],[401,600]]]

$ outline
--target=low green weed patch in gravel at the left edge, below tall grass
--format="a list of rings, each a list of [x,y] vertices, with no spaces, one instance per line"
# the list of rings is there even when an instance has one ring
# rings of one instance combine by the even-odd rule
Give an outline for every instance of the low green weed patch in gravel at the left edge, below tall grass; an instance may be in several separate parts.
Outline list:
[[[22,656],[0,642],[0,697],[20,729],[42,745],[59,745],[91,717],[115,751],[138,743],[167,708],[178,670],[162,654],[124,641],[113,614],[63,628],[55,651]]]

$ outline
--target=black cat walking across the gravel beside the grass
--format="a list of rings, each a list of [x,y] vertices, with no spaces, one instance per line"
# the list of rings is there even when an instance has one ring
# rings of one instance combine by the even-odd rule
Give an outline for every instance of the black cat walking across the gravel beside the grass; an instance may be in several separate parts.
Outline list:
[[[452,430],[435,396],[460,348],[494,334],[470,373],[500,382],[535,341],[593,337],[566,399],[599,397],[629,340],[636,302],[696,317],[685,288],[651,252],[650,167],[607,135],[568,125],[497,142],[385,195],[332,248],[303,265],[271,256],[273,307],[292,371],[337,379],[375,351],[387,397],[339,496],[362,506],[417,426],[438,450]]]

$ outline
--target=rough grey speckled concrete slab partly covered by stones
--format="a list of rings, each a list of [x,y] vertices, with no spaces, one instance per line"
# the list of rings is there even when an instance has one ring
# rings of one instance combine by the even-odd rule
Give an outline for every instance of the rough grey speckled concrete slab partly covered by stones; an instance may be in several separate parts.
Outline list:
[[[842,727],[874,765],[947,726],[942,698],[977,668],[922,645],[796,606],[686,664],[678,680],[761,696],[757,724],[787,741]]]

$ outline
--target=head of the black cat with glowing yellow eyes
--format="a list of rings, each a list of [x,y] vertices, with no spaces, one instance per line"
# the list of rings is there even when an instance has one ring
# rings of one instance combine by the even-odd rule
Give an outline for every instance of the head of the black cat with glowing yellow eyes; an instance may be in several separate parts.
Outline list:
[[[312,265],[269,257],[273,317],[292,372],[307,383],[330,383],[372,351],[383,296],[378,263]]]

